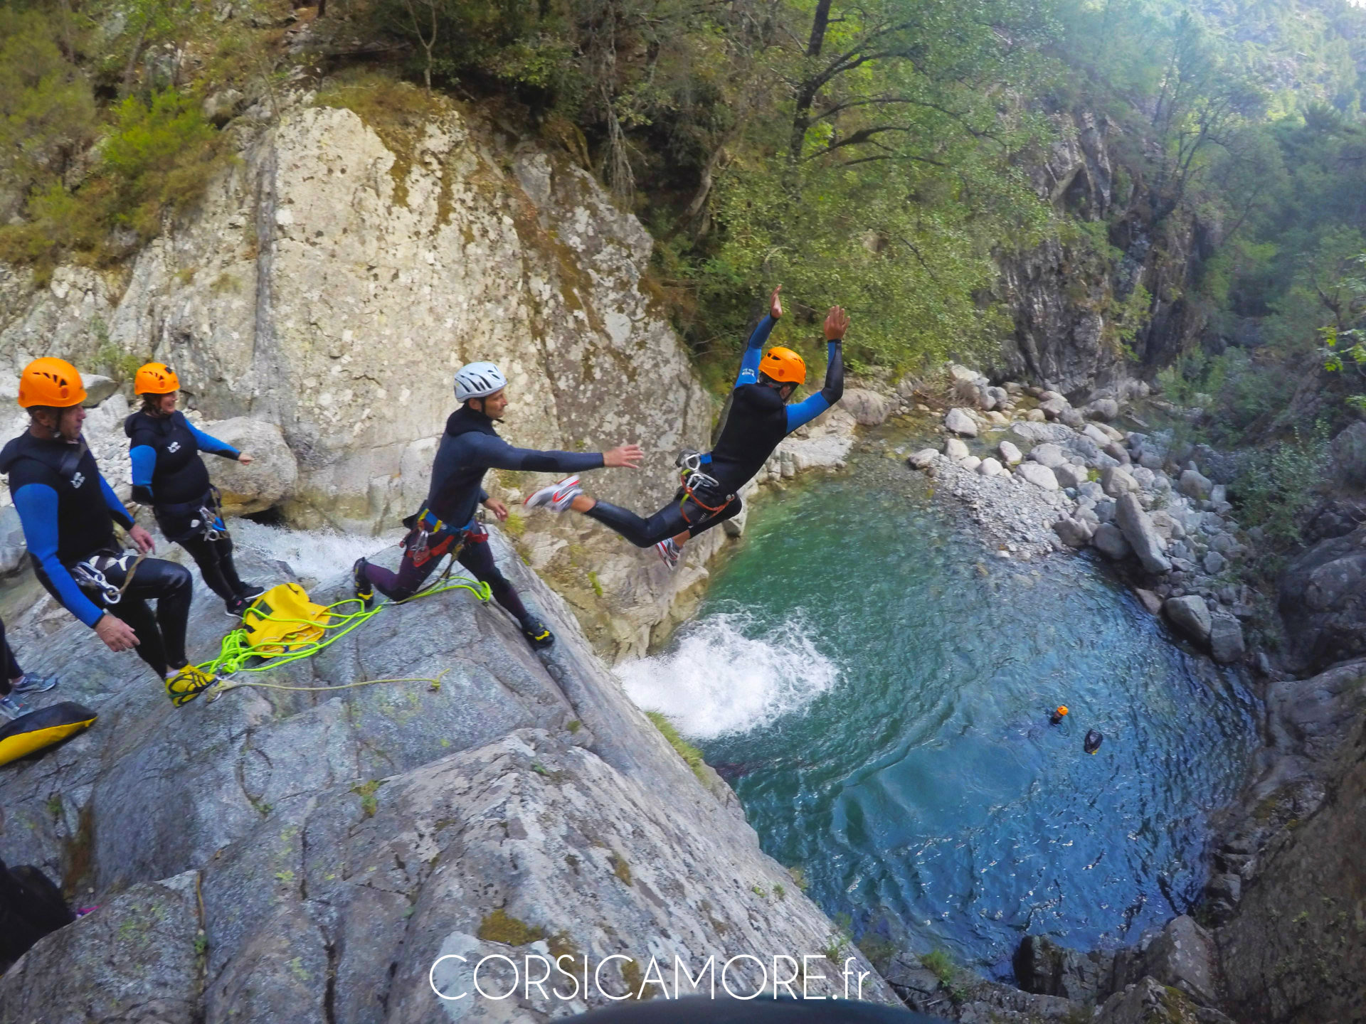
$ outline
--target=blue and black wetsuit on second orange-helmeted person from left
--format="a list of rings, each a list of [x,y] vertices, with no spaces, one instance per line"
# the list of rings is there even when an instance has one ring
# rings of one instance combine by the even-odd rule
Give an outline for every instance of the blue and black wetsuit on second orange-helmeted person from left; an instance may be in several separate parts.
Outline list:
[[[199,452],[236,460],[232,445],[198,430],[183,412],[134,412],[123,421],[133,460],[133,500],[152,507],[168,541],[194,558],[209,590],[235,606],[260,593],[238,578],[232,538],[219,515],[217,493]]]

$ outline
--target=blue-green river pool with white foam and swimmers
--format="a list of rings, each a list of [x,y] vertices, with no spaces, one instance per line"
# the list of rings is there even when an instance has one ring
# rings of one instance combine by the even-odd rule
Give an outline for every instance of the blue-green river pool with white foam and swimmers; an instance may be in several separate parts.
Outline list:
[[[1184,911],[1255,739],[1236,677],[1104,567],[988,558],[874,455],[753,513],[698,618],[620,674],[855,935],[997,975],[1022,934],[1113,946]]]

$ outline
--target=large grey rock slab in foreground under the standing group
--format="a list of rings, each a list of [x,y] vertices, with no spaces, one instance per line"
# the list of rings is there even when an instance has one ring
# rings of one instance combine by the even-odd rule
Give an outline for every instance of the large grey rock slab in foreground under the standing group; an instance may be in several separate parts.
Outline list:
[[[16,621],[20,650],[64,679],[40,703],[75,699],[100,721],[4,769],[0,842],[100,909],[0,979],[0,1021],[545,1020],[638,993],[652,957],[672,993],[675,954],[695,973],[747,953],[772,975],[775,954],[841,946],[734,795],[688,770],[564,605],[493,542],[559,636],[541,657],[456,590],[176,710],[134,655],[68,616]],[[223,632],[214,606],[197,605],[195,655]],[[388,681],[352,685],[367,680]],[[556,998],[571,986],[555,975],[540,993],[443,1004],[429,969],[447,954],[469,961],[436,971],[452,994],[473,993],[485,956],[519,969],[570,956],[579,975],[587,957],[590,986],[617,958],[589,998]],[[507,991],[500,963],[485,991]],[[814,980],[836,975],[820,963],[811,984],[843,995]],[[729,973],[746,991],[759,980],[754,961]],[[876,973],[863,995],[895,999]]]

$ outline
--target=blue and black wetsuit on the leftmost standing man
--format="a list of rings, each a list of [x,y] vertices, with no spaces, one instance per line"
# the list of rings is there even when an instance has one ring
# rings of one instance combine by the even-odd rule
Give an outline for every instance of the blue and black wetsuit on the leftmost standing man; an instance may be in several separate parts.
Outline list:
[[[131,625],[138,635],[134,650],[158,676],[183,668],[193,586],[189,569],[146,558],[117,602],[98,588],[83,588],[71,575],[76,563],[92,563],[113,587],[122,587],[133,564],[113,535],[113,524],[131,528],[133,516],[100,475],[85,438],[48,441],[25,431],[0,451],[0,472],[10,475],[29,557],[48,593],[89,627],[105,613]],[[156,614],[148,606],[150,599],[157,602]]]

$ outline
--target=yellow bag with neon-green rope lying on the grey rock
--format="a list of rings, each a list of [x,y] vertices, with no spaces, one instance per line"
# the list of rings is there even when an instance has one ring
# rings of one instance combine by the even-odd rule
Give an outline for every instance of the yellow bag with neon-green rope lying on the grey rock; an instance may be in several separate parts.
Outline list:
[[[266,672],[302,658],[311,658],[357,627],[374,618],[389,605],[403,605],[448,590],[469,590],[485,603],[492,601],[493,591],[488,583],[464,576],[456,576],[451,583],[445,582],[451,575],[454,561],[452,557],[441,575],[417,594],[403,601],[384,601],[374,608],[366,608],[361,598],[344,598],[332,605],[316,605],[307,599],[303,587],[296,583],[272,587],[255,598],[242,613],[242,627],[223,638],[219,657],[198,666],[219,677],[219,685],[213,688],[209,699],[214,700],[219,694],[243,685],[240,683],[225,684],[224,680],[228,676],[238,672]],[[351,605],[359,610],[348,610]],[[260,661],[255,665],[249,665],[247,662],[253,659]],[[340,687],[301,688],[339,689]]]

